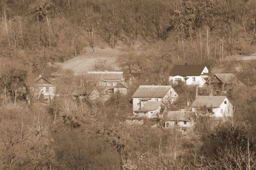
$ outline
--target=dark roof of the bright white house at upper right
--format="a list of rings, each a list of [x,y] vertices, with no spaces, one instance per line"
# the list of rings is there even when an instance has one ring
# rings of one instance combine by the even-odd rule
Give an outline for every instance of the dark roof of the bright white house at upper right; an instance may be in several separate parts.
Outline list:
[[[170,76],[200,76],[206,65],[174,65]]]

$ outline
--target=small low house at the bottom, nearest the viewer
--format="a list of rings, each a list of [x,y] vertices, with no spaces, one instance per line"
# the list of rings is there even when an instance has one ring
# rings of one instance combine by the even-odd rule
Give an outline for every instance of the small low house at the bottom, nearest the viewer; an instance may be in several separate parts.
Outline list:
[[[168,111],[165,116],[165,127],[192,127],[194,122],[189,111]]]

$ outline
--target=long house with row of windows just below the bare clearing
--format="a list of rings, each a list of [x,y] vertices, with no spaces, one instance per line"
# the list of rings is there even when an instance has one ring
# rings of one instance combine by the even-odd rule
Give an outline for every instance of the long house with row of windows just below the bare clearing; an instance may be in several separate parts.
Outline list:
[[[95,81],[96,87],[107,89],[111,89],[125,80],[122,71],[88,71],[87,79]]]

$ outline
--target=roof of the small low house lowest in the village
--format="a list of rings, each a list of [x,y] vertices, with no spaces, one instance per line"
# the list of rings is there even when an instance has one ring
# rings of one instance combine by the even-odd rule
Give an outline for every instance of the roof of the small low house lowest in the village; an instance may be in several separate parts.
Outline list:
[[[189,121],[189,117],[187,113],[191,113],[189,111],[168,111],[165,117],[165,121]]]

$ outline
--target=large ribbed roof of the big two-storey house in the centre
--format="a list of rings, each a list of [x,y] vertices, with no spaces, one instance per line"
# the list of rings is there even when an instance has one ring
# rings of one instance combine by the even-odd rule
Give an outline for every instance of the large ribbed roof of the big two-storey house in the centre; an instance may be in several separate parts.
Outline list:
[[[163,98],[171,88],[171,85],[140,85],[131,97]]]

